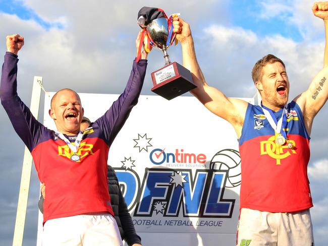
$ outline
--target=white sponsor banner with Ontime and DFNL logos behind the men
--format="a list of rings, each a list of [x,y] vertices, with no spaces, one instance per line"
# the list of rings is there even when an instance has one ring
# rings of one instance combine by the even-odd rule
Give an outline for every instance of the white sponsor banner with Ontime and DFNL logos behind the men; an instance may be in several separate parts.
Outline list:
[[[50,129],[52,95],[45,98],[44,110]],[[79,95],[91,121],[119,96]],[[108,164],[117,172],[143,245],[236,242],[241,182],[236,133],[196,98],[140,96],[110,149]]]

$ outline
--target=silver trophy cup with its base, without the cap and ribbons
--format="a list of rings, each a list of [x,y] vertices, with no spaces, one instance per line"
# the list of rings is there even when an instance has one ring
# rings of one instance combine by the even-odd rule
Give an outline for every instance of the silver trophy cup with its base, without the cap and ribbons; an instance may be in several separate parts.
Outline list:
[[[188,69],[175,61],[173,63],[170,61],[168,48],[175,39],[175,34],[172,35],[172,30],[169,30],[170,26],[173,28],[170,25],[170,21],[172,19],[157,18],[152,20],[146,27],[147,35],[152,45],[163,51],[166,65],[151,73],[151,79],[154,85],[151,91],[168,100],[197,87],[193,84],[191,73]]]

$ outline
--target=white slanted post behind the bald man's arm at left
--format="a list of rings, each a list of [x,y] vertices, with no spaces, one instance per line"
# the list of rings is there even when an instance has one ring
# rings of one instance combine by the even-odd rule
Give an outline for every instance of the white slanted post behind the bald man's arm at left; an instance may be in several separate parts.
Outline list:
[[[42,84],[42,77],[34,76],[30,110],[36,119],[38,118],[38,114],[39,114],[39,105],[40,105],[40,97],[41,97],[41,86],[39,85],[39,83]],[[17,205],[13,246],[21,246],[23,243],[23,234],[24,234],[24,226],[25,226],[28,192],[30,188],[32,161],[33,161],[32,155],[30,151],[27,149],[27,147],[25,147],[21,186],[19,190],[18,205]]]

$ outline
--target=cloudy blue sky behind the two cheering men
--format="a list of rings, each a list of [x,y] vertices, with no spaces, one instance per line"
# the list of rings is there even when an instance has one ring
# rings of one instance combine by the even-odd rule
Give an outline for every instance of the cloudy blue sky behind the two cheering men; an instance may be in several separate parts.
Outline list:
[[[128,4],[126,4],[128,3]],[[44,78],[47,91],[70,87],[84,93],[121,93],[135,56],[139,31],[137,12],[143,6],[182,13],[190,23],[197,59],[208,84],[227,96],[253,97],[256,90],[250,71],[267,53],[281,57],[291,81],[290,100],[304,91],[322,68],[323,22],[311,12],[308,0],[265,1],[39,1],[0,0],[0,49],[5,36],[25,37],[20,54],[18,92],[29,105],[33,76]],[[195,8],[195,6],[197,8]],[[171,60],[182,64],[180,46],[170,47]],[[2,62],[2,60],[1,60]],[[142,94],[151,95],[150,73],[163,66],[159,50],[149,54]],[[108,76],[109,75],[109,76]],[[111,80],[108,81],[108,77]],[[92,83],[90,83],[92,81]],[[105,88],[103,84],[106,84]],[[82,85],[82,86],[81,86]],[[314,201],[311,209],[316,245],[325,245],[328,216],[327,105],[316,116],[311,134],[309,179]],[[19,192],[24,145],[6,112],[0,107],[0,136],[9,149],[0,149],[0,244],[11,244]],[[32,171],[24,245],[35,245],[38,180]]]

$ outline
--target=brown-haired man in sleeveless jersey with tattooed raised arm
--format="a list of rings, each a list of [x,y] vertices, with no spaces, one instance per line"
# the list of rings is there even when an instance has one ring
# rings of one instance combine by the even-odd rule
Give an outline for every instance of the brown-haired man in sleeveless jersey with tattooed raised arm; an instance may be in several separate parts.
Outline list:
[[[324,20],[327,34],[328,4],[315,3],[312,11]],[[309,88],[290,103],[283,61],[271,54],[258,60],[252,70],[262,97],[257,106],[208,86],[189,25],[175,18],[174,32],[182,46],[183,66],[198,86],[192,94],[228,120],[239,139],[242,182],[237,245],[314,245],[307,165],[313,118],[328,97],[327,57]]]

